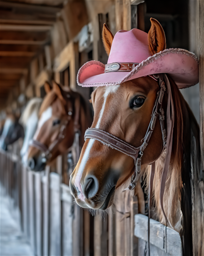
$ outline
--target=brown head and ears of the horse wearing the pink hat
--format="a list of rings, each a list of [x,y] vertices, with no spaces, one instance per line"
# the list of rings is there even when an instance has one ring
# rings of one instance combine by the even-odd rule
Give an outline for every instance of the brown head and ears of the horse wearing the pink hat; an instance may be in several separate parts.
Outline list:
[[[161,25],[154,19],[151,22],[149,51],[153,55],[166,48],[166,39]],[[102,38],[109,55],[113,35],[106,25],[103,27]],[[106,131],[136,148],[140,147],[151,121],[158,90],[158,82],[150,76],[120,85],[98,87],[90,100],[94,108],[91,128]],[[166,96],[164,111],[167,108],[165,101]],[[142,166],[154,162],[162,151],[162,131],[157,120],[142,157]],[[115,190],[130,179],[134,168],[135,163],[130,156],[101,141],[86,139],[79,162],[71,174],[72,195],[81,207],[105,210],[113,203]]]

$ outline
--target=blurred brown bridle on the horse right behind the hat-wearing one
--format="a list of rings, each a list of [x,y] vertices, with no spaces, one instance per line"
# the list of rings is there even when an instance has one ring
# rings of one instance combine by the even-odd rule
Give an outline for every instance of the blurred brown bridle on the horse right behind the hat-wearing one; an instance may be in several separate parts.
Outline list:
[[[41,143],[37,140],[32,140],[30,142],[30,146],[33,146],[43,152],[42,157],[45,159],[45,162],[52,157],[52,152],[53,152],[54,148],[60,142],[62,142],[62,140],[65,138],[67,125],[68,125],[69,121],[71,120],[71,116],[73,114],[72,104],[69,99],[71,96],[69,93],[67,93],[66,96],[67,96],[66,102],[68,105],[67,119],[65,120],[64,124],[61,126],[57,138],[50,144],[49,147],[47,147],[44,143]],[[74,133],[79,132],[79,129],[80,129],[79,116],[80,116],[80,96],[77,95],[74,99]]]

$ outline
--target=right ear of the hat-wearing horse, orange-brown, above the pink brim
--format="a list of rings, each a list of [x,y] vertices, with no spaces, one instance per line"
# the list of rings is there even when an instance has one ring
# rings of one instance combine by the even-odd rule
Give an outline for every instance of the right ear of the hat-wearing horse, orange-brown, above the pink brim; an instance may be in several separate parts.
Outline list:
[[[154,55],[166,49],[166,37],[161,24],[153,18],[150,21],[152,25],[148,33],[149,48]]]

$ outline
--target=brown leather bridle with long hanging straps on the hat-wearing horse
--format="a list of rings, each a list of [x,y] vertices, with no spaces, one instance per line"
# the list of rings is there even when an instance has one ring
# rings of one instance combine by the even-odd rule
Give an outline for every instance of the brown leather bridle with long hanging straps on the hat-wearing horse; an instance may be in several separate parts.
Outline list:
[[[135,162],[135,169],[134,173],[131,177],[131,183],[129,185],[129,189],[133,190],[136,186],[136,182],[139,179],[139,175],[141,172],[141,158],[145,148],[148,146],[149,140],[155,128],[157,116],[159,117],[160,126],[162,129],[162,137],[163,137],[163,150],[166,148],[166,157],[164,163],[164,169],[162,172],[162,178],[160,182],[160,205],[162,208],[162,212],[164,214],[166,225],[168,225],[167,216],[164,212],[163,207],[163,197],[164,197],[164,190],[166,184],[166,178],[168,174],[168,168],[170,163],[171,157],[171,150],[172,150],[172,140],[173,140],[173,126],[174,126],[174,106],[173,106],[173,99],[171,95],[171,87],[169,80],[166,74],[158,74],[157,76],[154,75],[156,79],[159,79],[159,86],[160,90],[157,92],[157,98],[154,104],[154,108],[152,111],[152,118],[147,129],[145,138],[143,139],[143,143],[140,147],[134,147],[129,143],[113,136],[112,134],[96,129],[96,128],[89,128],[85,132],[85,140],[86,139],[95,139],[103,143],[104,145],[114,148],[128,156],[131,156]],[[166,85],[166,86],[165,86]],[[164,127],[164,109],[162,108],[162,101],[164,98],[165,91],[167,90],[168,95],[168,104],[167,104],[167,132]],[[162,154],[161,153],[161,154]],[[161,155],[160,154],[160,155]],[[156,159],[157,160],[157,159]],[[155,160],[155,161],[156,161]],[[154,173],[155,173],[155,161],[151,164],[151,174],[150,174],[150,181],[149,181],[149,218],[148,218],[148,246],[149,246],[149,255],[150,255],[150,206],[151,206],[151,195],[152,195],[152,187],[153,187],[153,180],[154,180]],[[165,235],[166,236],[166,235]]]

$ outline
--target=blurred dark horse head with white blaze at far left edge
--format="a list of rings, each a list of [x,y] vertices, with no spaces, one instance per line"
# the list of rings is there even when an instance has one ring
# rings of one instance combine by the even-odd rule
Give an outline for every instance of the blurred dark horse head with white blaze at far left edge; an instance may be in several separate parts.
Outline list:
[[[24,138],[24,129],[18,121],[18,113],[7,113],[1,134],[1,148],[4,151],[8,150],[8,145],[13,144],[19,138]]]

